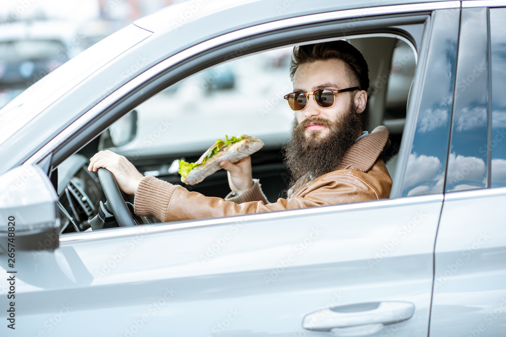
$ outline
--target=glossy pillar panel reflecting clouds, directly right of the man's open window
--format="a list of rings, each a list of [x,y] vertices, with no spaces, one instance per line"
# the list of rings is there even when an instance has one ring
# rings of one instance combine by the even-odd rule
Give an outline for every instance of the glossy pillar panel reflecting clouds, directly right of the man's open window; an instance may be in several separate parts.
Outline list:
[[[446,16],[447,13],[436,15]],[[426,61],[429,70],[424,74],[420,104],[411,105],[418,110],[418,115],[412,145],[407,149],[409,157],[400,194],[403,197],[439,194],[444,190],[458,26],[453,20],[436,21],[438,24],[433,27]]]

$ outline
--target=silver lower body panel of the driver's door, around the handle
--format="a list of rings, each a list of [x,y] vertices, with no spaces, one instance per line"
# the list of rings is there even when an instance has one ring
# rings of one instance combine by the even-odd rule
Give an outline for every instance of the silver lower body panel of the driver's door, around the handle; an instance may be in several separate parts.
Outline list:
[[[413,197],[68,235],[37,257],[66,277],[29,284],[19,275],[20,333],[47,333],[56,316],[57,336],[72,326],[83,335],[318,336],[302,328],[305,315],[401,301],[412,317],[374,335],[427,336],[441,205],[441,196]]]

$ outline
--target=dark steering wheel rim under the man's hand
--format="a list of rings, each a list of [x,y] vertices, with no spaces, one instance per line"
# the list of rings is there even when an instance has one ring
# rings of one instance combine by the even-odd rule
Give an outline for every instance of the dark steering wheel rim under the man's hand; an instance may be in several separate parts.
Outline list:
[[[99,168],[97,173],[107,199],[107,208],[116,218],[118,225],[120,227],[135,226],[134,218],[119,191],[114,175],[103,167]]]

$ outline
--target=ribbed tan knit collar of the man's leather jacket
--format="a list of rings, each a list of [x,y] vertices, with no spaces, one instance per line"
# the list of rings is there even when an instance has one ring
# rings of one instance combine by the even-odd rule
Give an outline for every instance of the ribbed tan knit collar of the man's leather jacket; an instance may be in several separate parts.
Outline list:
[[[357,140],[346,152],[336,170],[355,169],[367,172],[376,162],[383,150],[390,146],[387,127],[376,127],[369,135]]]

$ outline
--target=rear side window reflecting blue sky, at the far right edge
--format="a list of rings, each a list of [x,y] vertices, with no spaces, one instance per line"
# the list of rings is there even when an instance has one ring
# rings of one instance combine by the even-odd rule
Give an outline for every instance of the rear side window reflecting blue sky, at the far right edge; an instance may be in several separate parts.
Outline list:
[[[506,186],[506,8],[490,9],[492,77],[491,187]],[[483,148],[483,150],[485,150]]]

